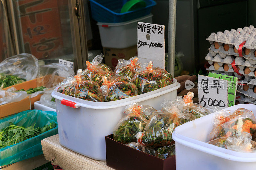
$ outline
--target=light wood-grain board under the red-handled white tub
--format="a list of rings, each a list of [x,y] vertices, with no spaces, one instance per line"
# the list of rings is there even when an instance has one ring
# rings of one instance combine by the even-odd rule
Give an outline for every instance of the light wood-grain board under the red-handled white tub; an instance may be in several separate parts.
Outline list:
[[[113,170],[106,161],[94,160],[61,146],[59,135],[47,137],[41,144],[45,159],[64,170]]]

